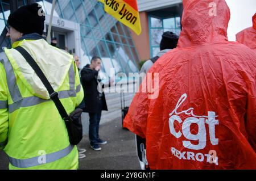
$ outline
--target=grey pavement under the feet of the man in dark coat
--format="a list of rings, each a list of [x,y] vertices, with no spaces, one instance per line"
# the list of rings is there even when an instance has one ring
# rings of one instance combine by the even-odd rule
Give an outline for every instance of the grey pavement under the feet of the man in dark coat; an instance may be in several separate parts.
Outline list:
[[[90,148],[88,133],[84,135],[79,147],[86,149],[86,157],[79,160],[79,169],[140,169],[134,134],[127,129],[122,129],[120,117],[101,124],[100,137],[103,140],[108,141],[108,144],[101,145],[102,149],[100,151],[95,151]],[[8,169],[8,164],[8,159],[6,158],[5,153],[0,151],[0,169]]]

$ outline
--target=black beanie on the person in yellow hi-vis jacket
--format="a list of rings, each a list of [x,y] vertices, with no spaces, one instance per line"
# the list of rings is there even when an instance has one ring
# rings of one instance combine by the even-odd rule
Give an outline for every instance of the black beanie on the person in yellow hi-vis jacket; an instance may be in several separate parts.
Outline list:
[[[33,3],[31,5],[22,6],[10,14],[7,23],[24,35],[30,33],[42,35],[44,20],[46,20],[46,16],[42,6],[38,3]]]

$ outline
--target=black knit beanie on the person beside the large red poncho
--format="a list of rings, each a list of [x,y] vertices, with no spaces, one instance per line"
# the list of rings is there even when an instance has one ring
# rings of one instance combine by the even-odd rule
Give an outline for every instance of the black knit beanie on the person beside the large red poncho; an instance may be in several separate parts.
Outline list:
[[[177,36],[175,33],[171,31],[164,32],[160,42],[160,50],[176,48],[178,40],[179,36]]]

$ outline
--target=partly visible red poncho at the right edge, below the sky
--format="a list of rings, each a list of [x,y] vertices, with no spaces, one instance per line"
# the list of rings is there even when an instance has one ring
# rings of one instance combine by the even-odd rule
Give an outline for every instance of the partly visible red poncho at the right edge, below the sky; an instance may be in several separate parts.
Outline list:
[[[253,16],[253,27],[246,28],[245,30],[237,33],[237,41],[256,50],[256,13]]]

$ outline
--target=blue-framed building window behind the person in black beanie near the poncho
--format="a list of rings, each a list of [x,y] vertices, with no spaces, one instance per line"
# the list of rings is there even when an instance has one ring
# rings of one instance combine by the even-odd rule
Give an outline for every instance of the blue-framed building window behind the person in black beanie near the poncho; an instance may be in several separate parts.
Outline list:
[[[180,17],[172,16],[168,18],[160,18],[157,16],[148,16],[149,20],[149,33],[150,33],[150,56],[155,57],[160,51],[160,41],[163,32],[171,31],[180,35]]]

